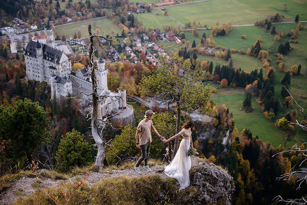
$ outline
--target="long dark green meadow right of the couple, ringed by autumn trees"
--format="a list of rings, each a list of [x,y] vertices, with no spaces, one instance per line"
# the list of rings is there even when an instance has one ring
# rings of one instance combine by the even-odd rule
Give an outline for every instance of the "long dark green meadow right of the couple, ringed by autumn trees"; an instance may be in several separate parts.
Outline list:
[[[254,111],[246,113],[240,110],[240,106],[243,103],[245,95],[243,89],[219,89],[217,94],[213,94],[212,100],[217,104],[225,104],[232,112],[234,117],[235,126],[239,131],[244,128],[251,130],[253,135],[258,137],[265,142],[270,142],[274,147],[279,144],[285,143],[285,133],[275,129],[274,124],[269,122],[263,117],[260,106],[256,103],[255,99],[252,99],[254,104]],[[306,134],[299,130],[292,136],[292,139],[287,142],[286,146],[292,146],[298,140],[306,140]]]

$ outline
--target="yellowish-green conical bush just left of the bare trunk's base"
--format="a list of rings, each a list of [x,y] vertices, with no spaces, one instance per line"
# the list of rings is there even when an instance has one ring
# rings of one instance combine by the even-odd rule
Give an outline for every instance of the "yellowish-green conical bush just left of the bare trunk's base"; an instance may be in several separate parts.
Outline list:
[[[58,170],[68,172],[74,166],[82,167],[92,163],[92,147],[83,138],[84,135],[75,129],[67,132],[66,137],[61,139],[55,159],[58,163]]]

